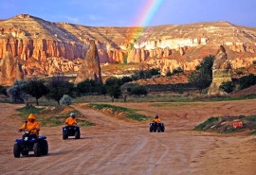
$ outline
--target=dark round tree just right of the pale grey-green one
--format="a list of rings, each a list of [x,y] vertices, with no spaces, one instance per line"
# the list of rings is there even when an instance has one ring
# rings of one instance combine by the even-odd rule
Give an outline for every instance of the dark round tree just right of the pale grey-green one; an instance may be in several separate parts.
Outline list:
[[[49,93],[49,89],[44,84],[44,80],[39,80],[37,78],[28,79],[27,83],[22,86],[22,91],[30,96],[34,96],[36,98],[36,105],[39,105],[39,98],[46,96],[46,94]]]

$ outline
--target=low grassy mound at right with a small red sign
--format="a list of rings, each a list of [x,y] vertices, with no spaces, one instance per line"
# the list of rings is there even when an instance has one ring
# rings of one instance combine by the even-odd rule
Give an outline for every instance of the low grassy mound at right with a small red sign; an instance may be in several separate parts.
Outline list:
[[[242,122],[242,126],[234,127],[233,124]],[[194,131],[214,131],[219,133],[232,133],[250,131],[256,133],[256,115],[218,116],[210,117],[205,122],[197,125]]]

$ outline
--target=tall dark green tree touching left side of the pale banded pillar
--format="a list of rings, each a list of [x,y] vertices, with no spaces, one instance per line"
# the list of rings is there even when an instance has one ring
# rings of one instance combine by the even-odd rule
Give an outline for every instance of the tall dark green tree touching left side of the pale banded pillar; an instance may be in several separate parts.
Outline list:
[[[214,61],[214,56],[210,55],[205,57],[200,65],[195,67],[195,70],[189,77],[189,82],[196,87],[200,93],[202,90],[209,87],[212,81],[212,64]]]

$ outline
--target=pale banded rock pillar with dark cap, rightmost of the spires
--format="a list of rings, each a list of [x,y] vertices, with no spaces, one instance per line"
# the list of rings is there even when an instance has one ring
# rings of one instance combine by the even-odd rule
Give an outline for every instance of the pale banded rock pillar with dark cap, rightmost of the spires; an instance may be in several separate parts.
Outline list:
[[[212,65],[212,82],[208,91],[208,95],[227,95],[226,92],[219,89],[222,82],[231,81],[231,65],[223,45],[220,45],[218,53]]]

